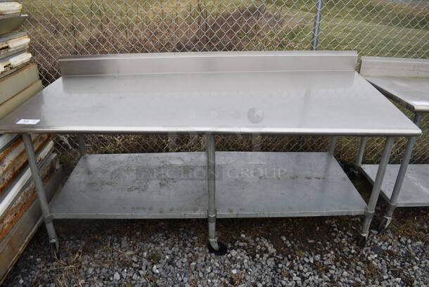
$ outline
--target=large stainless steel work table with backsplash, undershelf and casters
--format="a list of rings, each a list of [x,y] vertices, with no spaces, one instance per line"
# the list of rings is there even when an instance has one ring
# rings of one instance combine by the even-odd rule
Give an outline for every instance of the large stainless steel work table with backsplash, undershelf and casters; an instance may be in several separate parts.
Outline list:
[[[23,134],[51,245],[54,218],[365,215],[395,136],[421,133],[354,68],[349,51],[155,53],[63,58],[63,77],[0,120]],[[82,158],[49,207],[29,134],[77,133]],[[90,155],[84,134],[204,134],[206,153]],[[329,153],[215,152],[217,134],[331,136]],[[333,158],[338,136],[385,136],[368,205]],[[215,197],[215,191],[217,197]]]

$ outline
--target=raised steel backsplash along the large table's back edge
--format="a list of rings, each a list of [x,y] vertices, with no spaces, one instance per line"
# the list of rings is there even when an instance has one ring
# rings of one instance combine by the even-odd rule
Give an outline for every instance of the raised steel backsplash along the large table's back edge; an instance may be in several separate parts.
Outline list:
[[[61,75],[141,75],[198,72],[349,70],[355,51],[236,51],[72,56],[59,60]]]

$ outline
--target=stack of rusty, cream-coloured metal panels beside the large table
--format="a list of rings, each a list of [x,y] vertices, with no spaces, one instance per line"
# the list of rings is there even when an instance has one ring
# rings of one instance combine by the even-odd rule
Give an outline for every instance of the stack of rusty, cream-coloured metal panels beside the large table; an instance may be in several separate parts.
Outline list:
[[[41,91],[37,65],[28,45],[30,37],[17,29],[27,15],[16,1],[0,1],[0,118]],[[48,198],[58,188],[62,172],[53,141],[45,134],[32,136]],[[39,227],[41,210],[27,163],[23,139],[0,135],[0,283]]]

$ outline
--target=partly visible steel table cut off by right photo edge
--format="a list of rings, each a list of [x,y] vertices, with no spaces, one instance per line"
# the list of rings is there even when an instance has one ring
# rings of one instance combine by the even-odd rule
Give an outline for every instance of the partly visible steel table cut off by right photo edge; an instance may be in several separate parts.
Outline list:
[[[423,113],[429,112],[429,60],[411,58],[362,57],[361,75],[385,96],[414,113],[414,123],[421,125]],[[409,165],[416,136],[406,143],[401,165],[388,165],[381,194],[389,206],[378,231],[392,221],[397,206],[429,206],[429,165]],[[376,179],[378,165],[361,165],[370,180]]]

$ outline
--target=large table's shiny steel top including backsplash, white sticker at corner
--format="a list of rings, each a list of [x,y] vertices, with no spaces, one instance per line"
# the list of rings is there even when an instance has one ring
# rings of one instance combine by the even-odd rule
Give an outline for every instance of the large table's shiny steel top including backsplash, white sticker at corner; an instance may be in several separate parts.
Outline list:
[[[160,54],[68,58],[62,65],[74,68],[63,67],[63,74],[82,67],[92,75],[56,80],[0,120],[0,132],[421,134],[354,72],[355,53],[306,53],[182,53],[188,56],[167,54],[167,62]],[[166,63],[176,65],[174,72]],[[143,73],[127,75],[127,65],[134,72],[141,65]],[[17,124],[22,119],[34,125]]]

